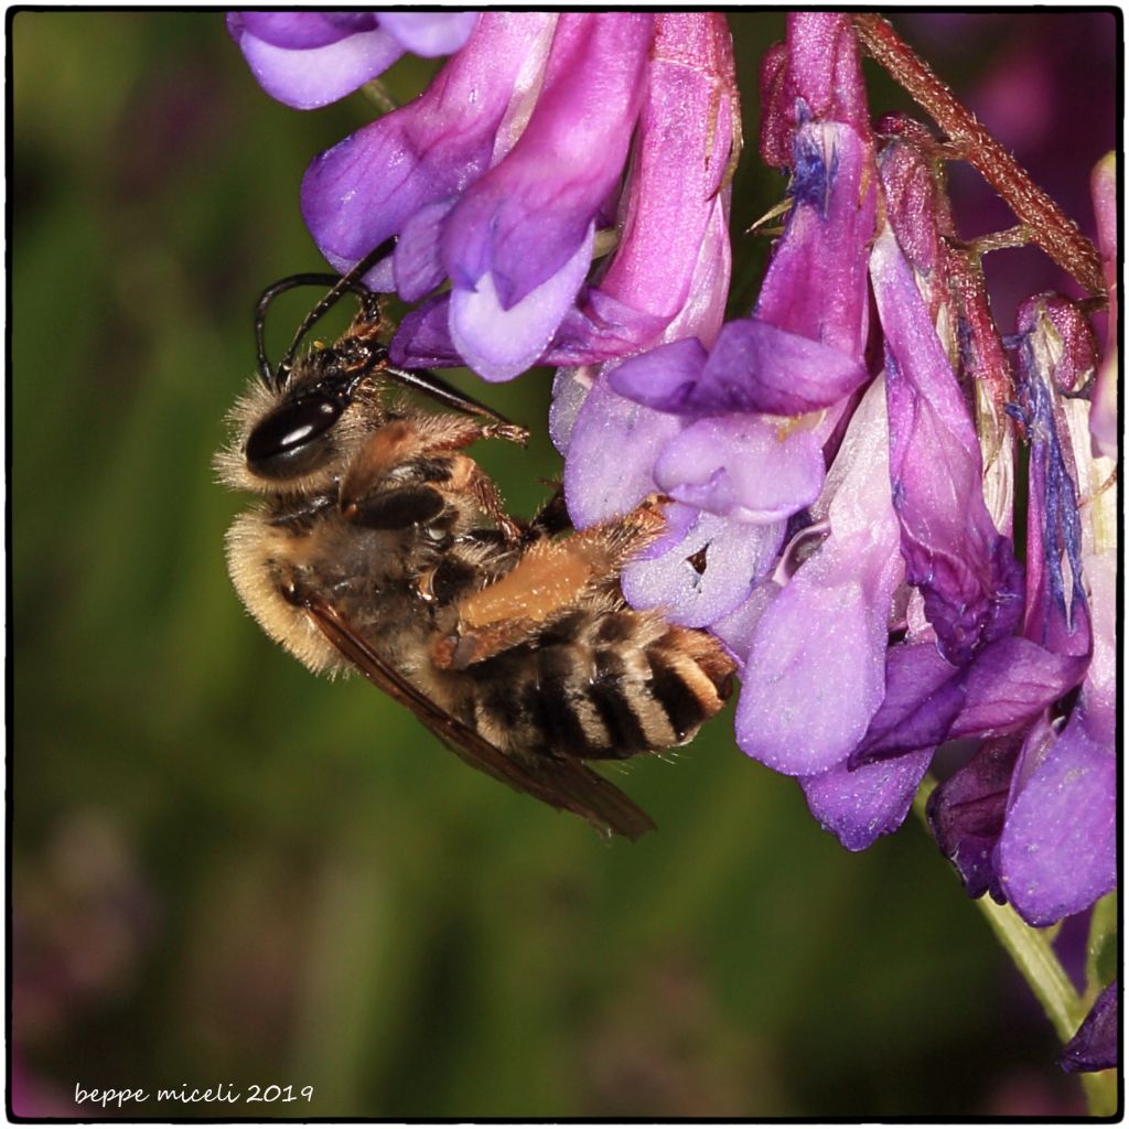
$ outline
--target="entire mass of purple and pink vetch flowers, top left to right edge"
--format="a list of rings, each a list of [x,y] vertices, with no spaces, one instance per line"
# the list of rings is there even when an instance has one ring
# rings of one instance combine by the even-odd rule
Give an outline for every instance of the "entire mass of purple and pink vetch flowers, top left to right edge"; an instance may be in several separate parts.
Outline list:
[[[397,362],[490,380],[558,366],[550,427],[577,527],[671,499],[623,592],[726,645],[745,753],[860,850],[960,743],[928,819],[970,894],[1042,926],[1114,886],[1112,159],[1093,181],[1104,357],[1058,295],[1004,335],[948,204],[951,147],[872,121],[848,16],[795,12],[761,77],[787,220],[751,314],[723,324],[739,134],[721,17],[230,26],[296,105],[465,37],[420,98],[314,161],[307,225],[340,270],[396,236],[367,281],[423,299]],[[296,77],[299,54],[329,51],[349,63]],[[1089,1026],[1105,1042],[1111,1007]],[[1070,1061],[1093,1069],[1106,1052],[1086,1038]]]

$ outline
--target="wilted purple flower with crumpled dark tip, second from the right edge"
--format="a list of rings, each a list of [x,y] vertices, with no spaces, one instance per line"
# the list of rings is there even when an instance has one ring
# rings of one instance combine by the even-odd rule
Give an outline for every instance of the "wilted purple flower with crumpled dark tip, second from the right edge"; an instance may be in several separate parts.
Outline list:
[[[988,388],[978,406],[987,402],[989,410],[981,419],[994,437],[997,462],[1007,456],[1009,430],[999,428],[991,409],[997,390],[1009,378],[1000,370],[997,335],[989,331],[975,279],[953,272],[964,283],[956,301],[940,294],[927,306],[921,295],[922,282],[929,294],[935,283],[931,275],[951,257],[942,244],[928,238],[928,226],[947,224],[947,216],[933,207],[929,180],[916,175],[920,164],[914,167],[907,160],[911,150],[901,145],[899,150],[896,165],[889,150],[882,161],[892,202],[887,213],[895,220],[898,240],[891,231],[879,237],[872,268],[886,339],[891,402],[899,413],[895,417],[892,411],[891,485],[902,524],[907,576],[916,583],[921,621],[911,625],[904,644],[889,653],[885,698],[851,754],[854,769],[917,756],[947,739],[998,736],[1030,725],[1077,685],[1089,647],[1084,607],[1079,623],[1067,622],[1065,607],[1059,623],[1054,610],[1036,598],[1043,568],[1041,554],[1031,550],[1042,543],[1041,527],[1029,545],[1026,631],[1017,633],[1023,578],[1009,540],[997,527],[998,520],[1008,528],[1009,520],[1006,514],[996,519],[987,510],[988,484],[977,432],[930,312],[945,324],[940,312],[947,309],[948,324],[955,322],[965,331],[960,341],[952,342],[952,352],[966,373],[984,382],[978,391]],[[913,252],[912,271],[901,244]],[[1000,475],[997,500],[1009,500],[1010,480],[1009,470]],[[1033,513],[1041,513],[1043,497],[1036,483]],[[977,843],[984,826],[998,833],[1001,825],[999,759],[1014,761],[1016,751],[1014,742],[986,749],[982,759],[973,760],[965,774],[951,781],[951,794],[939,789],[934,798],[934,826],[943,848],[951,857],[972,860],[962,870],[970,891],[983,892],[992,884],[991,876],[984,877],[974,865],[980,858]],[[988,796],[995,805],[990,811]],[[968,843],[961,841],[965,832]]]

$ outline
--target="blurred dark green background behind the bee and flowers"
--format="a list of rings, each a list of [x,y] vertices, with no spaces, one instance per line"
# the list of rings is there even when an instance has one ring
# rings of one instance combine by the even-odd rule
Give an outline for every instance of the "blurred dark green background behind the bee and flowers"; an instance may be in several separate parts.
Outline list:
[[[1088,103],[1110,135],[1061,174],[1085,226],[1086,161],[1112,143],[1113,17],[947,18],[904,29],[962,89],[1048,20],[1105,84]],[[784,183],[755,152],[756,65],[784,17],[733,24],[739,231]],[[313,1101],[125,1112],[1080,1112],[1049,1025],[914,822],[848,855],[726,716],[615,778],[660,830],[605,843],[266,640],[226,576],[244,502],[210,460],[253,369],[254,297],[324,269],[301,172],[371,108],[274,104],[215,14],[9,26],[17,1112],[73,1111],[76,1084],[272,1083]],[[406,99],[431,69],[405,61],[387,86]],[[1062,137],[1047,125],[1026,158],[1058,170]],[[765,250],[738,237],[744,309]],[[275,352],[309,300],[279,303]],[[481,452],[518,513],[559,470],[548,387],[480,392],[536,432],[527,455]]]

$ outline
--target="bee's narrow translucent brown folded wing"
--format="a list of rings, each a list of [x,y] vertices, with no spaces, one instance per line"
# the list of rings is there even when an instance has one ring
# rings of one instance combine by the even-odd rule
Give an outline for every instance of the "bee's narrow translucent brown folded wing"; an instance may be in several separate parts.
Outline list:
[[[638,839],[654,829],[650,816],[619,788],[579,761],[545,756],[536,767],[507,756],[500,749],[440,709],[403,675],[393,669],[352,630],[327,601],[308,597],[303,606],[326,639],[366,679],[397,702],[406,706],[452,752],[467,764],[528,793],[552,807],[572,812],[604,834]]]

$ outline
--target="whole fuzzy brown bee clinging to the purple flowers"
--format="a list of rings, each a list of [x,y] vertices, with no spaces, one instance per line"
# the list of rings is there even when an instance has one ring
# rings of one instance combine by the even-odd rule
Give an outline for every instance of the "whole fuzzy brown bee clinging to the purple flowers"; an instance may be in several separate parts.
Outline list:
[[[390,326],[361,281],[390,250],[260,298],[257,376],[216,458],[227,485],[259,496],[227,535],[235,588],[315,673],[360,672],[474,768],[636,839],[653,822],[585,761],[685,744],[728,697],[733,663],[706,632],[623,599],[623,564],[664,530],[662,499],[580,532],[559,491],[532,520],[507,514],[465,452],[527,435],[436,374],[391,362]],[[268,307],[313,285],[327,292],[272,367]],[[349,294],[359,308],[345,333],[298,357]]]

